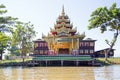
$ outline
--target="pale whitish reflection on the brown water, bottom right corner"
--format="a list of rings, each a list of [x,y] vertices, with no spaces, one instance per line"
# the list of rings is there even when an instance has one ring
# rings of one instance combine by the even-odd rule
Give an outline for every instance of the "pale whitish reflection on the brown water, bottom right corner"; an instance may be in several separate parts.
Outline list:
[[[120,80],[120,65],[94,68],[95,80]]]

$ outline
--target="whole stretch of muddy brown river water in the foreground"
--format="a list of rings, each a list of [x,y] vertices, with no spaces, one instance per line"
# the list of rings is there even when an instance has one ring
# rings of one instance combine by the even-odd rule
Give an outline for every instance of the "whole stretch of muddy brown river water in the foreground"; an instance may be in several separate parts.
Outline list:
[[[0,80],[120,80],[120,65],[104,67],[6,67]]]

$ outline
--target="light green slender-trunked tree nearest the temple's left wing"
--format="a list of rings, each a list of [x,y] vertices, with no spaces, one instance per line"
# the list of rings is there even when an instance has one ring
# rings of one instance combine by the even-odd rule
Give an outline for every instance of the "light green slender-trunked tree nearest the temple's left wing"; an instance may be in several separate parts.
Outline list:
[[[12,45],[19,48],[24,62],[24,56],[32,50],[32,39],[35,37],[34,27],[30,23],[18,22],[13,30]]]

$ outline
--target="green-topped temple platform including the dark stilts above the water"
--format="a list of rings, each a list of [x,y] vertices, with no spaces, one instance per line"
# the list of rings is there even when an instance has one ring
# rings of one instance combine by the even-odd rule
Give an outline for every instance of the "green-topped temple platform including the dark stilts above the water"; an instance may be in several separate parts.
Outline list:
[[[93,65],[94,64],[94,58],[92,58],[90,55],[55,55],[55,56],[48,56],[48,55],[40,55],[35,56],[32,59],[33,65],[39,64],[39,65]]]

